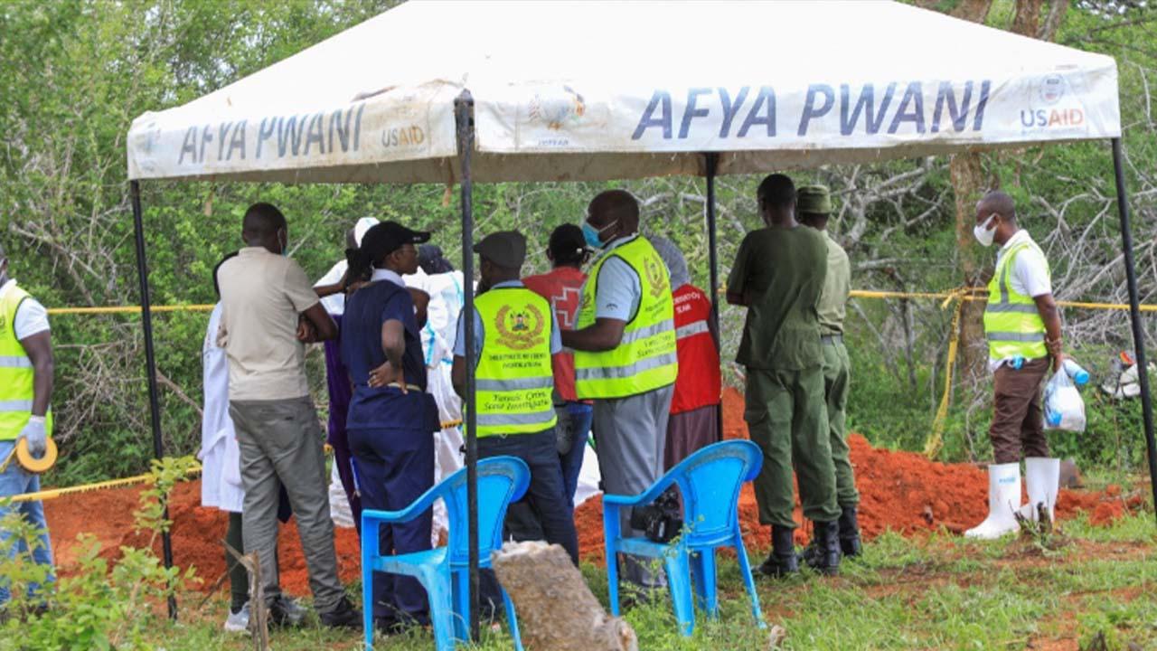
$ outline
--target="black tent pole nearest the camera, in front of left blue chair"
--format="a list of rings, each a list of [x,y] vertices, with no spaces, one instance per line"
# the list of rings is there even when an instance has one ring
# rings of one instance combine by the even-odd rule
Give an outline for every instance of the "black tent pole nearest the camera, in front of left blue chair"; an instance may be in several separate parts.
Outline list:
[[[463,90],[454,101],[458,132],[458,155],[462,156],[462,284],[463,319],[466,344],[466,395],[463,412],[466,424],[466,511],[470,541],[470,636],[479,639],[478,630],[478,418],[474,411],[474,203],[470,178],[470,158],[474,149],[474,98]]]

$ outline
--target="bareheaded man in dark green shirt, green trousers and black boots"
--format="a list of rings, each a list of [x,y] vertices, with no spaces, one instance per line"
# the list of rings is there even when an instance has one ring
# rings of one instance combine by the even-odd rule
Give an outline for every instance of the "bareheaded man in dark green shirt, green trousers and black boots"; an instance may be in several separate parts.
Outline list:
[[[760,571],[799,571],[791,540],[794,465],[803,514],[815,522],[819,542],[813,568],[834,575],[840,565],[840,509],[816,309],[827,272],[827,244],[819,232],[796,222],[795,185],[787,176],[765,178],[758,199],[767,227],[749,233],[739,244],[727,299],[749,308],[736,361],[747,370],[744,419],[751,440],[764,451],[756,500],[760,522],[772,526],[772,553]]]

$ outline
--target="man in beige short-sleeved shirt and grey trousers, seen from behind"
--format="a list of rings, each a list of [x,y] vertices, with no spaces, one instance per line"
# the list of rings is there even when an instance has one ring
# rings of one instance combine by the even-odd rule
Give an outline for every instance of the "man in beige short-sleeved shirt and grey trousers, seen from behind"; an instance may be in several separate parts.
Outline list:
[[[261,564],[274,622],[297,624],[281,595],[275,559],[278,495],[285,485],[297,517],[314,608],[327,627],[358,627],[361,614],[338,579],[326,492],[322,427],[305,379],[305,343],[332,339],[337,328],[302,268],[285,256],[289,228],[271,204],[245,212],[246,248],[218,269],[222,348],[229,359],[229,416],[241,448],[245,489],[242,532]]]

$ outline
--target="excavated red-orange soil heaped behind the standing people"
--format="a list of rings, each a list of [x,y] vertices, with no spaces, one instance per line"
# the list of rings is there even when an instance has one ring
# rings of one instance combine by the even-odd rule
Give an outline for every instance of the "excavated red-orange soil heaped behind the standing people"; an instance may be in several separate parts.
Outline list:
[[[743,396],[728,389],[723,396],[723,431],[729,439],[747,438],[743,420]],[[953,533],[980,522],[988,511],[988,477],[983,469],[967,463],[936,463],[909,452],[893,452],[871,447],[858,434],[850,437],[852,463],[860,489],[860,526],[867,539],[891,529],[906,535],[919,535],[939,527]],[[45,502],[49,528],[56,546],[57,562],[67,573],[75,565],[76,535],[94,534],[101,541],[103,555],[110,559],[120,556],[119,547],[142,546],[147,539],[133,532],[132,512],[137,509],[139,489],[112,489],[80,493]],[[1123,497],[1120,489],[1105,493],[1061,491],[1057,514],[1071,518],[1077,511],[1089,511],[1097,525],[1112,522],[1127,509],[1138,507],[1140,495]],[[174,562],[182,568],[193,565],[212,587],[224,572],[224,537],[228,518],[215,509],[200,506],[200,483],[178,485],[170,502],[174,520]],[[603,505],[591,498],[575,512],[578,546],[583,557],[603,558]],[[759,524],[758,509],[751,485],[743,489],[739,517],[751,549],[768,547],[769,528]],[[796,505],[795,519],[803,524]],[[806,542],[808,529],[796,529],[796,540]],[[281,527],[279,536],[281,586],[292,594],[309,593],[309,577],[294,521]],[[337,529],[337,553],[341,579],[349,581],[359,573],[358,536],[353,529]],[[160,541],[155,548],[160,554]]]

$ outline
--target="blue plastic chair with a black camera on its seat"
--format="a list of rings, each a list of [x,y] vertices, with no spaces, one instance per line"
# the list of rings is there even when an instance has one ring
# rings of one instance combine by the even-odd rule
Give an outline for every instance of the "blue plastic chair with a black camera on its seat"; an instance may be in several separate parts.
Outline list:
[[[759,610],[756,581],[747,563],[739,531],[739,489],[759,474],[764,458],[751,441],[730,440],[709,445],[671,468],[640,495],[604,495],[603,531],[606,537],[606,578],[610,583],[611,613],[619,614],[619,570],[616,554],[634,554],[663,561],[666,584],[680,632],[691,636],[695,613],[691,590],[694,584],[700,607],[712,619],[718,616],[715,590],[715,548],[734,547],[739,557],[743,583],[751,595],[751,613],[759,628],[766,628]],[[671,484],[683,495],[684,531],[670,543],[646,537],[624,537],[619,510],[654,502]],[[692,577],[692,571],[694,577]]]

